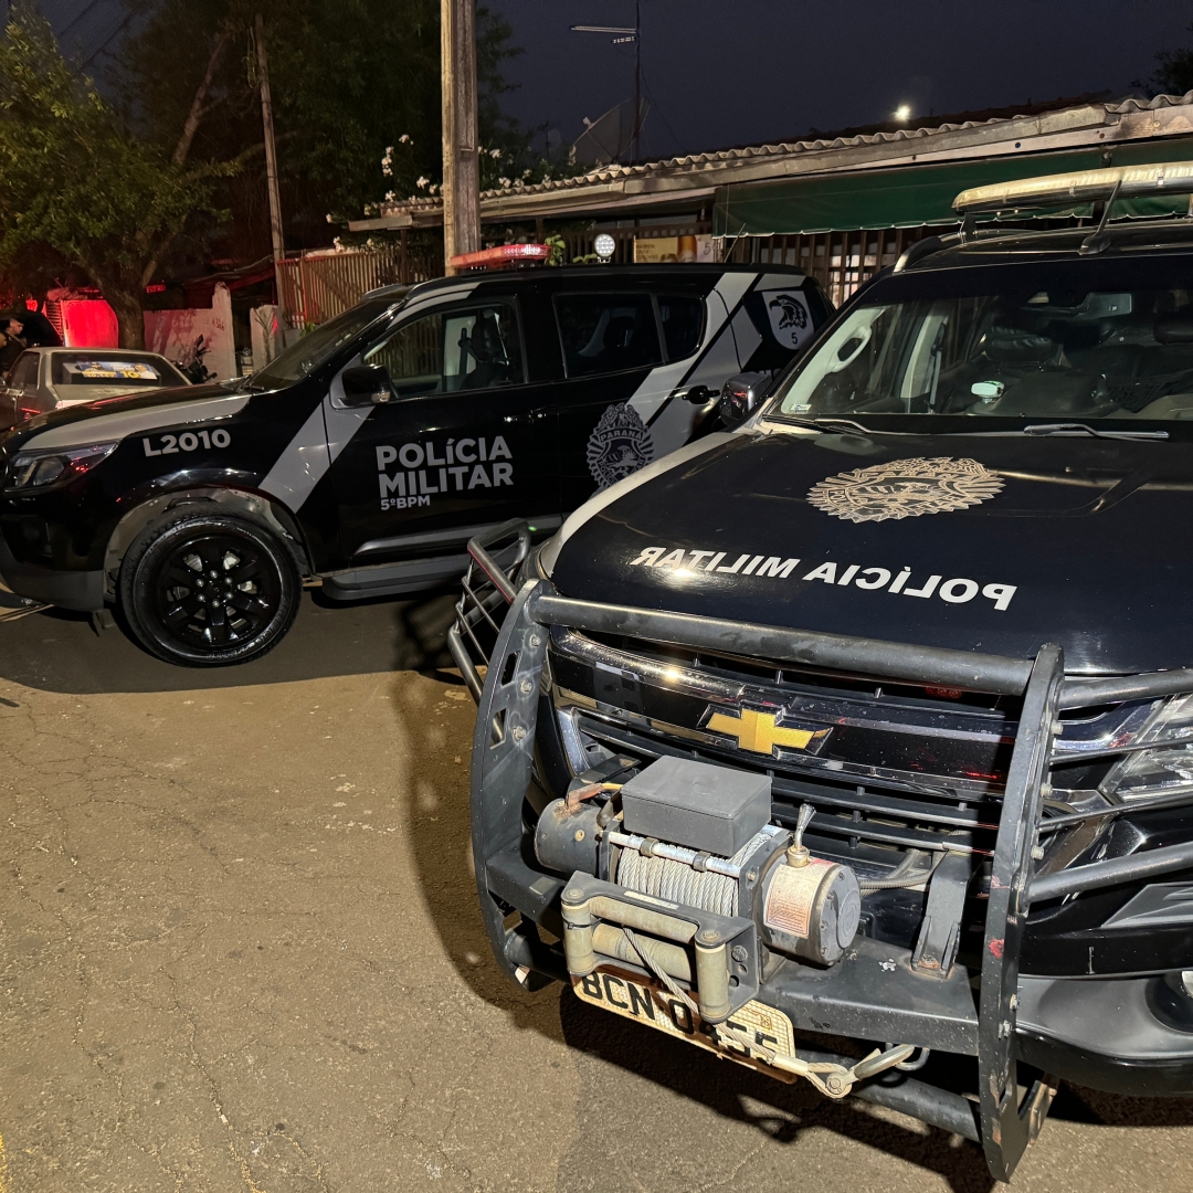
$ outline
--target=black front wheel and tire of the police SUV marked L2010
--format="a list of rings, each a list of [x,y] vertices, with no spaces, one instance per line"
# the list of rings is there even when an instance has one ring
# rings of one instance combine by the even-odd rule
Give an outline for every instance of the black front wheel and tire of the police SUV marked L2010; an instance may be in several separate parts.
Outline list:
[[[175,513],[147,527],[120,565],[129,628],[150,654],[180,667],[260,657],[293,624],[301,596],[289,546],[235,514]]]

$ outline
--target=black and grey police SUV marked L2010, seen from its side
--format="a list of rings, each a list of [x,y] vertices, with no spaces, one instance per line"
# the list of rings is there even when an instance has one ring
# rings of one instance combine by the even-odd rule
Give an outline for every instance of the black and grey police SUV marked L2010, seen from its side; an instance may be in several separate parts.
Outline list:
[[[118,397],[0,439],[0,579],[174,663],[242,662],[304,577],[336,600],[464,570],[709,429],[740,369],[830,314],[790,268],[589,266],[392,288],[242,381]]]

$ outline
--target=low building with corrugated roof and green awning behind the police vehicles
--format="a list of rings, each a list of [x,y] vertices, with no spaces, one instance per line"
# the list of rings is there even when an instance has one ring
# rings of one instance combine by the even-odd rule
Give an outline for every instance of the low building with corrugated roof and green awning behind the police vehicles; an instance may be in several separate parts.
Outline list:
[[[1193,92],[1086,98],[514,183],[482,193],[481,220],[486,240],[533,235],[563,221],[589,221],[589,240],[608,230],[623,246],[650,235],[711,234],[722,259],[803,265],[840,302],[911,241],[956,225],[959,191],[1191,159]],[[1136,214],[1150,210],[1141,205]],[[441,200],[426,197],[387,204],[350,227],[441,222]],[[619,259],[632,259],[632,245]]]

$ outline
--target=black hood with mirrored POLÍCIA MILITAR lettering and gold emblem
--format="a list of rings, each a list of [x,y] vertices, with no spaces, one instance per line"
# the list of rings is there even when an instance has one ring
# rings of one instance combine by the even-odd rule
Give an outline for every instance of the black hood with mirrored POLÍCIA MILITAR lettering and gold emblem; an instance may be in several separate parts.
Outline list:
[[[736,434],[599,509],[552,580],[567,596],[1015,657],[1058,642],[1070,673],[1185,667],[1193,441],[1175,434]],[[925,508],[939,512],[896,517]]]

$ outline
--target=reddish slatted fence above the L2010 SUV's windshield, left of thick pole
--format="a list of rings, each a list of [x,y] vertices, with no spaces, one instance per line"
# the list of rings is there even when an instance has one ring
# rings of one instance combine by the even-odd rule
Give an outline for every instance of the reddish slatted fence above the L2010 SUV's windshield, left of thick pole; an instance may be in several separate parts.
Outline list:
[[[326,323],[378,286],[443,274],[440,251],[404,243],[288,258],[278,266],[278,304],[289,327]]]

